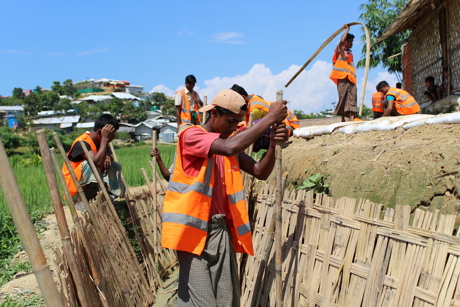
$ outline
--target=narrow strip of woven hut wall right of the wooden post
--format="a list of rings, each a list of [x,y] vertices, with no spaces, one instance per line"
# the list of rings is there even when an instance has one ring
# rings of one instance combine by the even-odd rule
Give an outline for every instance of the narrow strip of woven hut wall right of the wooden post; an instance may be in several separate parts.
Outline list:
[[[449,32],[449,65],[452,90],[460,89],[460,4],[458,0],[447,0]]]

